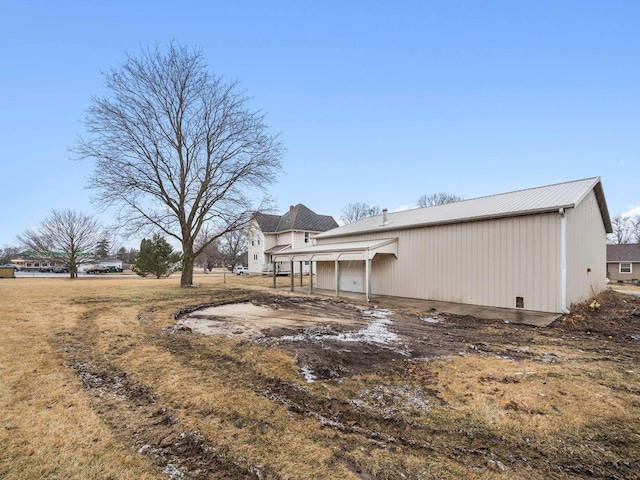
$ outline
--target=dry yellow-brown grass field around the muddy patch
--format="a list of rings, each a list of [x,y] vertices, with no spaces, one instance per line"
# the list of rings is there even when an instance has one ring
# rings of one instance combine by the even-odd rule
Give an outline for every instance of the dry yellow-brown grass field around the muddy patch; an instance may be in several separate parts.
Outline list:
[[[0,478],[640,478],[632,317],[481,324],[484,350],[313,383],[277,345],[172,328],[271,282],[1,279]]]

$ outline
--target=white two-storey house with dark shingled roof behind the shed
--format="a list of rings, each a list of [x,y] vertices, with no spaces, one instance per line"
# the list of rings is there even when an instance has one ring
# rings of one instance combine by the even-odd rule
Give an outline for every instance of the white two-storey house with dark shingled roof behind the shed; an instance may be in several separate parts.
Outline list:
[[[249,273],[273,273],[274,254],[309,246],[314,235],[337,226],[332,216],[318,215],[301,203],[284,215],[256,214],[247,230]],[[289,273],[291,264],[277,262],[275,268],[276,273]],[[300,264],[293,268],[298,273]],[[302,271],[308,273],[308,262],[302,262]]]

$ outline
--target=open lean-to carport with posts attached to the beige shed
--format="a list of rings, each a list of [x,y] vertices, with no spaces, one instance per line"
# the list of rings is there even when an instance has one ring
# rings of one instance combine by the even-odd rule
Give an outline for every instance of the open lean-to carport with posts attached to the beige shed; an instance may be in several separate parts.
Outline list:
[[[334,243],[314,245],[311,247],[284,252],[273,253],[274,262],[291,262],[293,271],[294,262],[309,262],[309,287],[313,293],[313,263],[334,262],[335,265],[335,291],[340,295],[341,285],[348,289],[347,283],[361,284],[367,301],[371,299],[371,261],[376,255],[393,255],[398,257],[398,239],[386,238],[379,240],[363,240],[358,242]],[[350,264],[342,269],[344,262]],[[362,262],[361,264],[359,262]],[[343,271],[341,271],[343,270]],[[362,281],[359,282],[359,275]],[[293,291],[293,275],[291,276],[291,291]],[[275,283],[274,283],[275,285]],[[349,290],[358,291],[358,290]]]

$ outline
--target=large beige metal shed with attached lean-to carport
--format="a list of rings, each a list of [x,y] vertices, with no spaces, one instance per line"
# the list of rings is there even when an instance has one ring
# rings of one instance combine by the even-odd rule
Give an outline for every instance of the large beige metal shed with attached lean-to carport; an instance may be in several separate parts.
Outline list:
[[[366,218],[273,254],[313,262],[316,286],[568,312],[606,286],[612,232],[599,177]]]

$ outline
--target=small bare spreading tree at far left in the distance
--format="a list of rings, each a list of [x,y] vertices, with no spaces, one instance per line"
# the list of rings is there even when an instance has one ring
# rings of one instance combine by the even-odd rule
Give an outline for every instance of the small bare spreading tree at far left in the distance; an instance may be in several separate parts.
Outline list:
[[[104,238],[98,221],[73,210],[52,210],[36,230],[25,230],[18,241],[34,255],[63,263],[70,278],[78,267],[93,261],[96,243]]]

